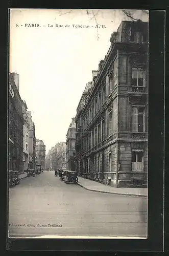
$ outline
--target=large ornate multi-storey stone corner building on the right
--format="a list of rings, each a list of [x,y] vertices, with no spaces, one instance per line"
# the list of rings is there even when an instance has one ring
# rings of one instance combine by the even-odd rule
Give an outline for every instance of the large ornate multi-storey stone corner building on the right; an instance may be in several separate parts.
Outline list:
[[[76,115],[77,171],[116,187],[147,185],[148,23],[120,24]]]

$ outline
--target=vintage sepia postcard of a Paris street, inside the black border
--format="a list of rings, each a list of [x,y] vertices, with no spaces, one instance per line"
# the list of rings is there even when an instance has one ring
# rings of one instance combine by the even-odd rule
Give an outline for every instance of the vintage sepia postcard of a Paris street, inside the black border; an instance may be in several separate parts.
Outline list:
[[[10,9],[9,238],[148,238],[148,60],[148,10]]]

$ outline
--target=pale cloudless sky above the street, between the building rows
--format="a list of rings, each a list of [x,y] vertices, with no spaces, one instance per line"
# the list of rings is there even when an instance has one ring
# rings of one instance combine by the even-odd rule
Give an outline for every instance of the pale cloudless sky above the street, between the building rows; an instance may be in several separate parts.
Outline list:
[[[131,13],[148,22],[146,12]],[[91,72],[98,70],[122,20],[130,20],[122,10],[10,10],[10,72],[19,74],[19,94],[46,153],[66,141]]]

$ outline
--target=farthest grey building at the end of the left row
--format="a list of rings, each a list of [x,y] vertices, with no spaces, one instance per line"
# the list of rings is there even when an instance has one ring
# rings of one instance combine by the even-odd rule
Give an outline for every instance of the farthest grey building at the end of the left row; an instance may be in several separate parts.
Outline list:
[[[40,164],[41,168],[45,169],[45,152],[46,146],[42,140],[36,139],[36,164]]]

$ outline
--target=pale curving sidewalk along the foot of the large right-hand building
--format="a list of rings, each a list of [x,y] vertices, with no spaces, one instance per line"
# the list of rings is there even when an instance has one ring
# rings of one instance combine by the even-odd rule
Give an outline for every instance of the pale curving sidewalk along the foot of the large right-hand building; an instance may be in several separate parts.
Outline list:
[[[108,194],[118,194],[126,196],[136,196],[136,197],[147,197],[148,189],[147,188],[135,188],[135,187],[112,187],[106,186],[97,181],[88,180],[85,178],[78,177],[78,185],[84,189],[108,193]]]

